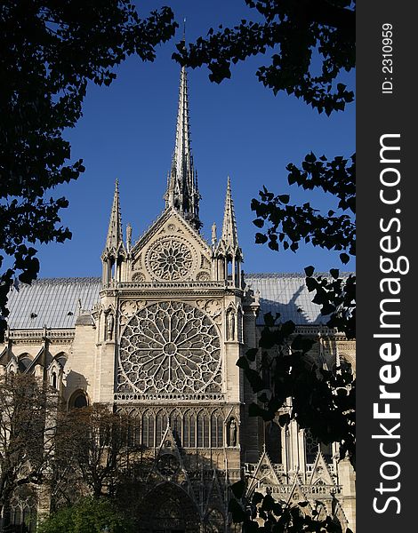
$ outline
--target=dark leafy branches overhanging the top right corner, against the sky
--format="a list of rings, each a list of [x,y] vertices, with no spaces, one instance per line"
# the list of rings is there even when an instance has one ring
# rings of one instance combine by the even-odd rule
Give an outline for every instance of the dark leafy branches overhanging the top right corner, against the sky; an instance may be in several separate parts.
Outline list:
[[[355,66],[355,0],[245,0],[257,13],[234,28],[210,28],[207,36],[173,58],[191,68],[206,65],[209,79],[231,76],[231,63],[267,54],[269,64],[256,75],[275,94],[285,91],[330,115],[354,99],[345,84],[335,82]]]

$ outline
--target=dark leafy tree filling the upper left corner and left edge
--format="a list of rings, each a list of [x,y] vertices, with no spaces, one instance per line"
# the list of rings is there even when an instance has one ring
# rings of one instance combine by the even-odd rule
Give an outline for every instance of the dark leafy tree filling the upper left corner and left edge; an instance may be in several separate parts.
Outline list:
[[[82,115],[88,82],[111,84],[129,55],[154,60],[176,27],[168,7],[141,19],[130,0],[0,5],[0,338],[12,283],[39,271],[34,245],[71,237],[60,226],[68,201],[49,195],[84,171],[63,131]]]

